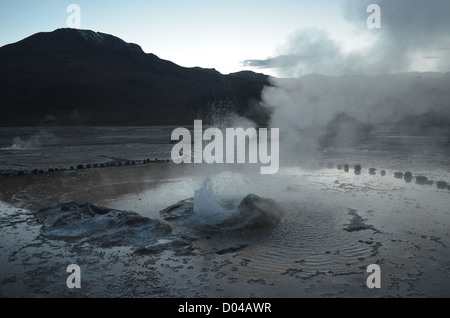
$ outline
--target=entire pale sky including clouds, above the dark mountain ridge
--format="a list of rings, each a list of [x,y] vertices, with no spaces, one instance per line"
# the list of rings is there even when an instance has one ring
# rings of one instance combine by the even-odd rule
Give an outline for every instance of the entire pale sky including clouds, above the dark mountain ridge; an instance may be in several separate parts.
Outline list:
[[[367,28],[371,3],[380,29]],[[70,4],[81,29],[223,74],[450,70],[448,0],[2,0],[0,46],[67,27]]]

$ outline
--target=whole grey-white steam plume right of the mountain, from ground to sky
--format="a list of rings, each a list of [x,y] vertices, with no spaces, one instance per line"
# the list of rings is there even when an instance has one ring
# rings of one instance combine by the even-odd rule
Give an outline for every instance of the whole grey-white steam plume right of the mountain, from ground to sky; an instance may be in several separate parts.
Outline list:
[[[381,8],[381,29],[366,25],[372,3]],[[288,148],[311,153],[320,135],[351,139],[399,122],[450,127],[450,1],[342,0],[342,8],[358,30],[371,32],[370,45],[346,52],[326,31],[303,29],[280,55],[244,61],[296,78],[273,79],[262,95]]]

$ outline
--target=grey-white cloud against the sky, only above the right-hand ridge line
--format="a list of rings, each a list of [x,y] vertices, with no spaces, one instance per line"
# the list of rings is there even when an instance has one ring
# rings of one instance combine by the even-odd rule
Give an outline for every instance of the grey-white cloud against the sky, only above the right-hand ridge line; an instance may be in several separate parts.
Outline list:
[[[249,59],[244,66],[274,68],[282,77],[305,74],[375,75],[407,71],[450,69],[450,1],[441,0],[342,0],[344,18],[359,35],[370,36],[364,49],[346,52],[326,31],[295,31],[276,56]],[[369,4],[381,8],[381,29],[369,29]],[[431,59],[430,57],[433,57]]]

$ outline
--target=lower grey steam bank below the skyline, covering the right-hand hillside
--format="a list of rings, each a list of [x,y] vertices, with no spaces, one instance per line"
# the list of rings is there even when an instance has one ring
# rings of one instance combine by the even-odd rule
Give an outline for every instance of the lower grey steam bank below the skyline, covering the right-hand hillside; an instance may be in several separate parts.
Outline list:
[[[450,124],[450,73],[311,74],[272,81],[262,103],[272,110],[270,126],[280,128],[281,157],[291,161],[313,159],[324,146],[354,147],[390,129],[415,134]]]

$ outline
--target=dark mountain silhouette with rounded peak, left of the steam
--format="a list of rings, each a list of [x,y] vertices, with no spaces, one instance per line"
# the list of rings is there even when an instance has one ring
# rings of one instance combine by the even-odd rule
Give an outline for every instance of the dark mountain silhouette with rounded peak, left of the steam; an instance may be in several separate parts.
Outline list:
[[[0,48],[0,125],[192,124],[214,112],[257,124],[268,76],[181,67],[115,36],[78,29]]]

